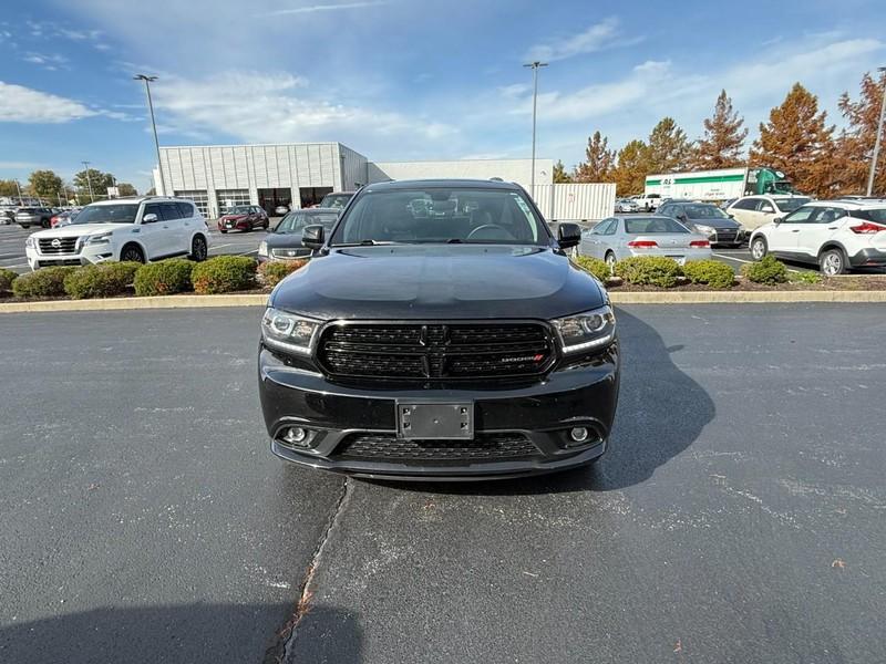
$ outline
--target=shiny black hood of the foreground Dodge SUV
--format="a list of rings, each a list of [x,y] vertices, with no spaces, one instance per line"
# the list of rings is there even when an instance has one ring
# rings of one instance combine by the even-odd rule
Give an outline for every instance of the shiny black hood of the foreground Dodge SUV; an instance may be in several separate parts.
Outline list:
[[[605,302],[599,282],[562,253],[488,245],[333,249],[269,300],[320,320],[549,320]]]

